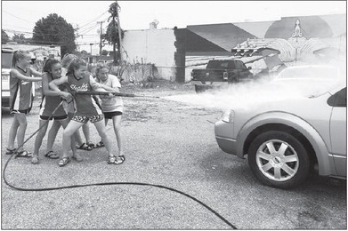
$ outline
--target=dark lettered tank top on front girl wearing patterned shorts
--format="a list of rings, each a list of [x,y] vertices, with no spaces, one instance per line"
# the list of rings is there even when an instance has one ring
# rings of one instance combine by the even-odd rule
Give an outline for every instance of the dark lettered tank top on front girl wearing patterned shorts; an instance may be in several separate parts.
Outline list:
[[[92,95],[76,94],[78,91],[92,91],[89,76],[78,79],[73,74],[68,74],[69,92],[74,96],[76,116],[102,115],[98,100]]]

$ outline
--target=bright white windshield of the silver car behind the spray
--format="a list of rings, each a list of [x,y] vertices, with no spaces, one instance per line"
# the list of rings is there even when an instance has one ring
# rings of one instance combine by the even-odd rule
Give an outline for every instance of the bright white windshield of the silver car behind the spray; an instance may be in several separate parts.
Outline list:
[[[307,97],[318,97],[342,84],[345,78],[334,67],[311,66],[286,68],[274,83]]]

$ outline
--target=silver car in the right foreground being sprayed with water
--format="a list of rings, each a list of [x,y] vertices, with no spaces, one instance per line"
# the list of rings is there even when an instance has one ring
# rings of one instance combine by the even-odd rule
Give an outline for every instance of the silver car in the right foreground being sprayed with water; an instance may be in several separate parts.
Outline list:
[[[339,75],[331,67],[284,69],[269,84],[295,83],[303,97],[229,109],[215,123],[219,147],[247,155],[255,177],[271,187],[298,186],[314,166],[322,176],[346,178],[346,82]]]

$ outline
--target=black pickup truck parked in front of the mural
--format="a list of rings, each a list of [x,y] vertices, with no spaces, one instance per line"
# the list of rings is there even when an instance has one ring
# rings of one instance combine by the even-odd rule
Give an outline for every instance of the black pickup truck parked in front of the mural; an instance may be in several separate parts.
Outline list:
[[[204,92],[223,83],[250,79],[253,77],[250,69],[241,60],[209,60],[206,69],[192,70],[190,84],[195,85],[196,92]]]

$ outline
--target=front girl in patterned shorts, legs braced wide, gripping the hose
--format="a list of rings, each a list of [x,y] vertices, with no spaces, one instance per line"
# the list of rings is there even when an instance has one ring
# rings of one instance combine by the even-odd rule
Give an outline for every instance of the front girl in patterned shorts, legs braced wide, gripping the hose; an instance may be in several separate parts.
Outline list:
[[[59,85],[68,84],[69,92],[75,94],[77,91],[90,91],[97,88],[103,88],[109,92],[115,92],[113,88],[105,86],[103,84],[97,84],[93,76],[87,72],[87,65],[85,60],[76,59],[71,62],[68,68],[67,76],[62,76],[59,79],[53,80],[49,86],[56,92],[61,92]],[[69,94],[64,92],[64,94]],[[106,128],[104,122],[104,116],[102,115],[101,108],[98,105],[97,101],[91,95],[76,94],[75,95],[75,105],[76,113],[72,118],[68,126],[65,128],[63,133],[63,154],[61,155],[61,160],[59,162],[60,166],[64,166],[70,161],[68,155],[69,152],[69,142],[71,136],[77,131],[84,123],[90,121],[94,123],[95,128],[97,129],[101,140],[104,141],[105,147],[108,150],[109,154],[109,164],[120,164],[123,163],[123,158],[117,157],[112,154],[111,143],[106,135]]]

